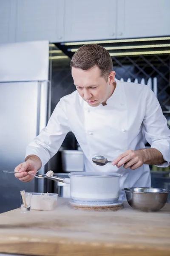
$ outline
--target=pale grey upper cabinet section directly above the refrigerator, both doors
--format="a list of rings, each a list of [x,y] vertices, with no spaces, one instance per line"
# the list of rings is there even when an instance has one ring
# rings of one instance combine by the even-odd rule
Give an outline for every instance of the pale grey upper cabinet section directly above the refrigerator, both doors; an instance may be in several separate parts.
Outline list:
[[[64,0],[0,0],[0,44],[64,41],[64,5]]]

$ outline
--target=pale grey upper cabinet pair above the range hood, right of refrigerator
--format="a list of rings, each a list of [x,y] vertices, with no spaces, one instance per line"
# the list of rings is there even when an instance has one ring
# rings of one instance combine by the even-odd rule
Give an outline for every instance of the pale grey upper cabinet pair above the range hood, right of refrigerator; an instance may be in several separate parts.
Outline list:
[[[169,0],[65,1],[65,41],[170,35]]]

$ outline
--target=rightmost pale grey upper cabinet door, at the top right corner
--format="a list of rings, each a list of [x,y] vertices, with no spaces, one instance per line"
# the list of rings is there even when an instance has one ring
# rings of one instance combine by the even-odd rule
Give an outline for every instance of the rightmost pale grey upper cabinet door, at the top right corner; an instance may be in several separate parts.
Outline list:
[[[118,0],[116,38],[170,35],[170,0]]]

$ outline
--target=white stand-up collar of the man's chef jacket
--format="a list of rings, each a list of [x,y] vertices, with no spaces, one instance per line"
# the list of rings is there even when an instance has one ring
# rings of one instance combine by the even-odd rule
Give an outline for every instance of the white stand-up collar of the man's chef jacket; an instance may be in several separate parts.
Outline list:
[[[85,102],[85,100],[82,99],[82,97],[79,95],[79,100],[80,100],[80,104],[83,106],[83,108],[107,108],[108,106],[115,106],[115,105],[119,105],[121,103],[121,88],[120,88],[120,81],[117,80],[115,78],[116,81],[116,88],[113,92],[113,94],[107,99],[105,106],[103,106],[102,104],[100,104],[97,107],[91,107],[90,105],[88,105],[87,102]]]

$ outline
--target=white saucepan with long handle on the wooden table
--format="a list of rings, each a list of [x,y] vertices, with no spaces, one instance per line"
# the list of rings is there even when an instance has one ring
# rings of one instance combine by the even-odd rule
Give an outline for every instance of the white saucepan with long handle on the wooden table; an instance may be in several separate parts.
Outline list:
[[[119,176],[113,172],[71,172],[69,178],[48,177],[71,185],[71,199],[79,204],[112,204],[119,199]]]

